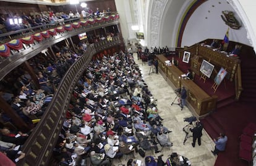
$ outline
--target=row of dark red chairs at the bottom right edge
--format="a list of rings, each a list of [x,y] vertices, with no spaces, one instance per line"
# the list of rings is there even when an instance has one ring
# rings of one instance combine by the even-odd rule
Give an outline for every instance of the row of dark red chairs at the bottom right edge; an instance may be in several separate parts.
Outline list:
[[[256,124],[250,123],[243,130],[240,136],[239,158],[246,160],[249,165],[254,157],[253,141],[256,133]],[[256,149],[256,148],[255,148]]]

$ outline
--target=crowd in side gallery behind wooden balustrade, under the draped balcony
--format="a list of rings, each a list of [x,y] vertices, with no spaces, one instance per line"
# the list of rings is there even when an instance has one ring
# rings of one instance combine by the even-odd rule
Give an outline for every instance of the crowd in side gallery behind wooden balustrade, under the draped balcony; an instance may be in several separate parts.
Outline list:
[[[56,60],[45,57],[45,55],[38,55],[28,60],[38,77],[40,89],[36,88],[32,77],[22,67],[15,69],[1,81],[1,96],[29,125],[32,124],[32,119],[43,115],[51,102],[54,89],[67,69],[80,56],[67,47],[63,47],[57,54]],[[1,114],[1,119],[3,122],[12,122],[12,119],[4,112]]]

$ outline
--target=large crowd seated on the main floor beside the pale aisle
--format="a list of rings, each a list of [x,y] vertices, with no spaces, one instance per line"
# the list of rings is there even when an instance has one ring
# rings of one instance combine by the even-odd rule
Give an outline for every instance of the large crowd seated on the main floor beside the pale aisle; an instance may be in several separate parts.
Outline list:
[[[158,140],[158,135],[171,131],[161,124],[154,98],[142,82],[129,53],[93,58],[74,89],[54,149],[55,159],[67,165],[85,160],[109,165],[139,147],[160,152],[158,142],[168,144],[169,140]]]

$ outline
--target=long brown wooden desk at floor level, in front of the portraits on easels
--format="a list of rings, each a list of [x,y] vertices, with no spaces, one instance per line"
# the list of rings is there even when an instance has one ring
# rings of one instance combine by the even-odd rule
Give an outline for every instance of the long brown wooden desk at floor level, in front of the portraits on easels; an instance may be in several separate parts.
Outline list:
[[[181,85],[187,89],[187,104],[194,109],[197,116],[203,116],[216,108],[216,96],[210,97],[192,80],[180,79],[184,73],[174,65],[166,66],[165,61],[168,59],[164,55],[157,55],[156,58],[164,79],[170,81],[176,89]]]

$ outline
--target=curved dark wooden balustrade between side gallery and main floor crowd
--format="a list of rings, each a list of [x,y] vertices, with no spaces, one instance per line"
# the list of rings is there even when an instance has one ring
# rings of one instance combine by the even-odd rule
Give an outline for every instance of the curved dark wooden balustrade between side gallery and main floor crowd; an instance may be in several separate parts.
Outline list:
[[[72,91],[80,75],[87,69],[88,63],[90,63],[95,53],[114,45],[120,45],[121,42],[119,37],[116,36],[112,42],[101,41],[92,44],[82,57],[69,68],[41,121],[23,145],[22,151],[26,153],[26,156],[17,165],[48,165],[66,117]]]

